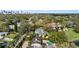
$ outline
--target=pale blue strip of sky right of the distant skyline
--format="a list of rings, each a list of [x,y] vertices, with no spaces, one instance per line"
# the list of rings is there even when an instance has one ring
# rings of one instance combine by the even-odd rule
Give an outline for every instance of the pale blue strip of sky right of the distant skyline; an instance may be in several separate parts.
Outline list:
[[[79,14],[79,10],[26,10],[26,11],[29,11],[31,13],[57,13],[57,14],[60,14],[60,13],[76,14],[76,13],[78,13]]]

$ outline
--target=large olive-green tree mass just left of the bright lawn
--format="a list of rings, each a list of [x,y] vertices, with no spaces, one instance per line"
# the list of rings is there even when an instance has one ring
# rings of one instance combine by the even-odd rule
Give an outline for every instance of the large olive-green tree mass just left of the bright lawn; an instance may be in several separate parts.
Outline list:
[[[53,40],[57,44],[62,44],[64,42],[68,42],[68,38],[67,38],[65,32],[63,32],[63,31],[50,33],[49,39],[51,39],[51,41]]]

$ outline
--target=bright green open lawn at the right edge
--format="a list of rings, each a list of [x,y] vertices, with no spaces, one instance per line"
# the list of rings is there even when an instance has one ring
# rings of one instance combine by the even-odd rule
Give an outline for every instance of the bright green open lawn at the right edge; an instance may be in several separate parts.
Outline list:
[[[76,33],[73,28],[69,28],[69,30],[66,31],[66,34],[68,36],[69,41],[74,41],[79,39],[79,33]]]

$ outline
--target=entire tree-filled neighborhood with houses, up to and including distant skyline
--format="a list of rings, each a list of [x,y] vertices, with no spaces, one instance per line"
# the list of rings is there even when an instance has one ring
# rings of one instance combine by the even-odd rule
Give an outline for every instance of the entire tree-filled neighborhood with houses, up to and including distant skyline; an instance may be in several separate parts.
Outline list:
[[[0,12],[0,48],[78,48],[78,14]]]

